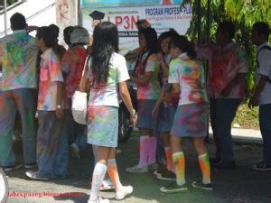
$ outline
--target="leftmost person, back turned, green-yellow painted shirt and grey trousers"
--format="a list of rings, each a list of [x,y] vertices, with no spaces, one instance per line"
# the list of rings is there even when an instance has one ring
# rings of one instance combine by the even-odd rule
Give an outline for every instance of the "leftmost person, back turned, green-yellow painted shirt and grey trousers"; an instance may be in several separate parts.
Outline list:
[[[24,167],[36,165],[36,112],[37,77],[36,57],[38,49],[34,38],[26,32],[23,14],[10,18],[13,33],[0,40],[0,63],[2,64],[2,101],[0,104],[0,166],[5,171],[22,167],[16,162],[13,150],[13,133],[16,113],[23,124]]]

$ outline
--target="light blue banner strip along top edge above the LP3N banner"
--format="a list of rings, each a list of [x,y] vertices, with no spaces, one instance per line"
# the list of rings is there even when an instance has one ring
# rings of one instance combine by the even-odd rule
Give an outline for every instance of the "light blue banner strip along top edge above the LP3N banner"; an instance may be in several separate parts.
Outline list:
[[[182,0],[82,0],[82,7],[115,7],[139,5],[180,5]]]

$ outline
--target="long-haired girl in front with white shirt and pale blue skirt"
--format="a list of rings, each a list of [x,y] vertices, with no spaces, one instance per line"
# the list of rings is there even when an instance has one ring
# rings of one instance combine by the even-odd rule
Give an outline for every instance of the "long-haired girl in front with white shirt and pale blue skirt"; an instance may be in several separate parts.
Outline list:
[[[93,51],[86,62],[79,87],[80,92],[87,92],[90,80],[88,143],[98,146],[89,203],[109,202],[98,197],[106,173],[114,183],[116,199],[123,199],[133,192],[133,187],[122,185],[117,172],[118,92],[131,115],[132,125],[136,122],[135,109],[126,86],[129,79],[126,60],[117,51],[117,26],[109,22],[98,23],[93,33]]]

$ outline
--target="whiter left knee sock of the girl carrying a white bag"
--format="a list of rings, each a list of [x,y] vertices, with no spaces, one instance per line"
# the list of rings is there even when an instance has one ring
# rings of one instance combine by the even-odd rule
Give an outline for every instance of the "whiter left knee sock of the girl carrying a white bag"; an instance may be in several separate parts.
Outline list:
[[[102,180],[105,177],[107,172],[107,166],[101,163],[96,163],[93,175],[92,175],[92,183],[91,183],[91,191],[90,191],[90,201],[94,201],[98,199],[98,192],[100,189],[100,185]]]

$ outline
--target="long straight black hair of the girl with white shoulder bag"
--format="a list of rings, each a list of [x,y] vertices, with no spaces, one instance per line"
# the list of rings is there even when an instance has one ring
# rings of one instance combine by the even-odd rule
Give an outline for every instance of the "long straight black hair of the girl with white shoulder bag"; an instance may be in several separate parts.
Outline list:
[[[98,23],[93,32],[91,72],[93,84],[105,85],[108,78],[109,60],[118,51],[117,26],[110,22]]]

